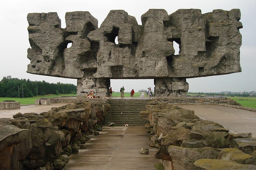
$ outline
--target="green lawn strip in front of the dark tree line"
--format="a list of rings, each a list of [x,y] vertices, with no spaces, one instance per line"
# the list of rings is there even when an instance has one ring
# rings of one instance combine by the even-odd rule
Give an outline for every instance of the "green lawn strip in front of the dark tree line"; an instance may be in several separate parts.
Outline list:
[[[44,95],[44,96],[35,96],[33,98],[0,98],[0,102],[5,100],[15,100],[17,102],[20,102],[20,104],[34,104],[36,99],[64,97],[64,96],[76,96],[76,94]]]

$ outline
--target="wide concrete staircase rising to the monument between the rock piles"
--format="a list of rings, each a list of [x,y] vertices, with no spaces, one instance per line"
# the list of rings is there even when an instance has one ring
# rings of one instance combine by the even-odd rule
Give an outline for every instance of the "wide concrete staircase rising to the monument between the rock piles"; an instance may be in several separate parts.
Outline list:
[[[109,99],[110,110],[106,115],[105,125],[115,123],[116,126],[144,126],[147,122],[140,117],[140,111],[151,99]]]

